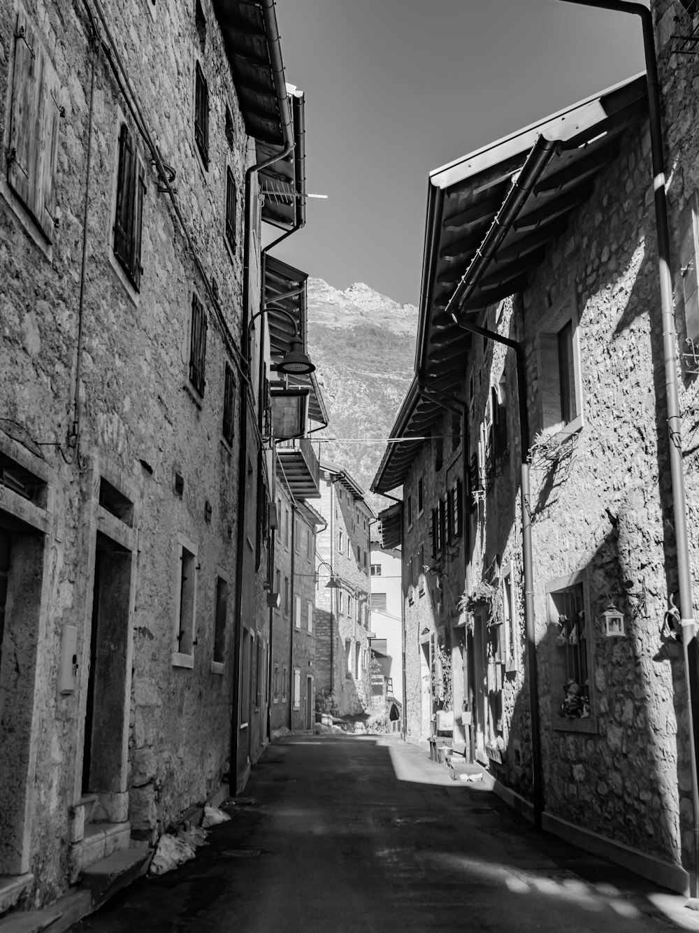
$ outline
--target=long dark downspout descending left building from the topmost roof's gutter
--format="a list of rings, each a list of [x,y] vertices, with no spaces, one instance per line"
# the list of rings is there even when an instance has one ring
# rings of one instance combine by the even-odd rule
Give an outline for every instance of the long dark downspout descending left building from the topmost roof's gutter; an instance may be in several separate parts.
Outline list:
[[[280,36],[277,29],[277,17],[274,9],[274,0],[260,0],[262,15],[265,21],[265,31],[269,48],[269,58],[272,64],[277,101],[281,114],[281,131],[283,133],[284,147],[278,154],[266,160],[256,162],[245,172],[245,228],[243,235],[243,271],[242,271],[242,326],[240,331],[240,345],[246,354],[249,340],[249,314],[250,314],[250,244],[252,239],[252,204],[253,204],[253,174],[268,165],[284,159],[294,147],[292,137],[291,116],[289,102],[286,96],[286,83],[284,81],[284,67],[281,62]],[[250,361],[247,360],[248,369]],[[247,475],[247,431],[248,431],[248,394],[249,384],[246,383],[244,391],[240,392],[240,450],[238,461],[238,535],[236,539],[236,624],[233,642],[233,670],[235,683],[233,685],[233,703],[231,709],[231,742],[230,742],[230,775],[237,783],[238,775],[238,723],[240,720],[240,684],[242,682],[240,666],[242,663],[242,577],[244,571],[245,553],[245,486],[240,483]],[[271,650],[271,645],[270,645]]]

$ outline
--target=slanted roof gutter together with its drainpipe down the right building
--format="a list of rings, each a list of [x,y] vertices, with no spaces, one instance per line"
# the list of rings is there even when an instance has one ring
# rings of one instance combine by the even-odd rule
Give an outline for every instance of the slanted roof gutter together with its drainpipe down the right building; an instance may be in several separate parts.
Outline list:
[[[487,330],[461,321],[457,317],[459,306],[473,294],[475,286],[486,271],[500,243],[512,228],[528,196],[539,180],[543,170],[555,155],[560,144],[539,135],[528,154],[521,170],[515,175],[513,186],[502,202],[483,243],[476,251],[469,268],[461,277],[454,294],[446,304],[446,311],[451,314],[454,323],[471,333],[480,334],[489,340],[502,343],[514,350],[517,367],[517,392],[519,396],[519,431],[521,447],[520,498],[522,511],[522,563],[525,578],[525,628],[527,632],[527,661],[529,675],[529,718],[531,722],[531,765],[532,790],[534,805],[534,827],[541,829],[543,810],[542,765],[541,765],[541,726],[539,721],[539,677],[536,653],[536,620],[534,619],[534,571],[531,550],[531,515],[529,512],[529,419],[527,410],[527,369],[524,349],[517,341],[500,336],[497,331]]]

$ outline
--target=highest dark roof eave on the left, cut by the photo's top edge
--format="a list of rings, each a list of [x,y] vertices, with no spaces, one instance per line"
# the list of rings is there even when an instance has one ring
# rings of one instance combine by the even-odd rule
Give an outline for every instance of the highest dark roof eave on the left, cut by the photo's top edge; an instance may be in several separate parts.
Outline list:
[[[284,146],[283,126],[289,125],[290,114],[275,86],[275,71],[283,75],[283,65],[274,7],[267,22],[259,0],[213,0],[213,9],[246,132],[259,142]]]

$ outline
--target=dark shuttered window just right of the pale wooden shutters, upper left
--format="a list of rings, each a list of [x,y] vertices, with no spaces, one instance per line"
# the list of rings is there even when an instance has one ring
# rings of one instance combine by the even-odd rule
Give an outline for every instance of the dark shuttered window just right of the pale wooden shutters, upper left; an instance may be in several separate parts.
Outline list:
[[[141,232],[144,219],[145,170],[129,127],[121,124],[117,170],[117,210],[114,217],[114,255],[131,285],[141,287]]]

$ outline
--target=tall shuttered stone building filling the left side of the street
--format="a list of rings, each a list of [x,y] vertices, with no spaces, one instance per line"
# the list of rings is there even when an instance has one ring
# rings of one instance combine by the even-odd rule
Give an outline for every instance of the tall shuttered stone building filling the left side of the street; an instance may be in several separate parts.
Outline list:
[[[253,319],[260,224],[300,226],[304,173],[271,0],[0,0],[0,102],[3,912],[267,741],[259,425],[288,347]]]

